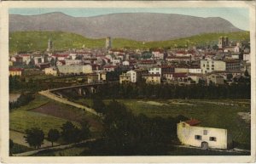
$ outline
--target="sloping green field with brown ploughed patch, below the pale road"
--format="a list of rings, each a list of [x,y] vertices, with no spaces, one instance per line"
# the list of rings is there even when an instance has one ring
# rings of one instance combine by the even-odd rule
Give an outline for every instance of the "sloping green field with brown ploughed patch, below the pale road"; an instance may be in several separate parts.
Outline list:
[[[79,127],[79,120],[82,118],[90,122],[90,129],[93,133],[98,133],[97,131],[101,129],[99,119],[84,110],[37,95],[28,105],[10,112],[9,128],[25,133],[27,128],[40,127],[44,133],[48,133],[50,128],[61,130],[61,125],[67,121],[72,121]]]

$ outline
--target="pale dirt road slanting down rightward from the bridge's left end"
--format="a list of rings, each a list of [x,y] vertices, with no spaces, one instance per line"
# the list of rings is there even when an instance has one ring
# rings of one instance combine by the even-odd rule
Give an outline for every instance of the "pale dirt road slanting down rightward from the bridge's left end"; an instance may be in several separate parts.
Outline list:
[[[55,101],[59,101],[59,102],[61,102],[63,104],[72,105],[72,106],[74,106],[76,108],[83,109],[85,111],[88,111],[88,112],[96,115],[96,116],[99,116],[99,114],[96,112],[96,110],[88,108],[87,106],[84,106],[84,105],[79,105],[79,104],[73,103],[72,101],[69,101],[67,99],[61,98],[61,97],[55,95],[54,93],[50,93],[48,90],[41,91],[41,92],[39,92],[39,94],[42,94],[42,95],[44,95],[45,97],[47,97],[49,99],[54,99]]]

